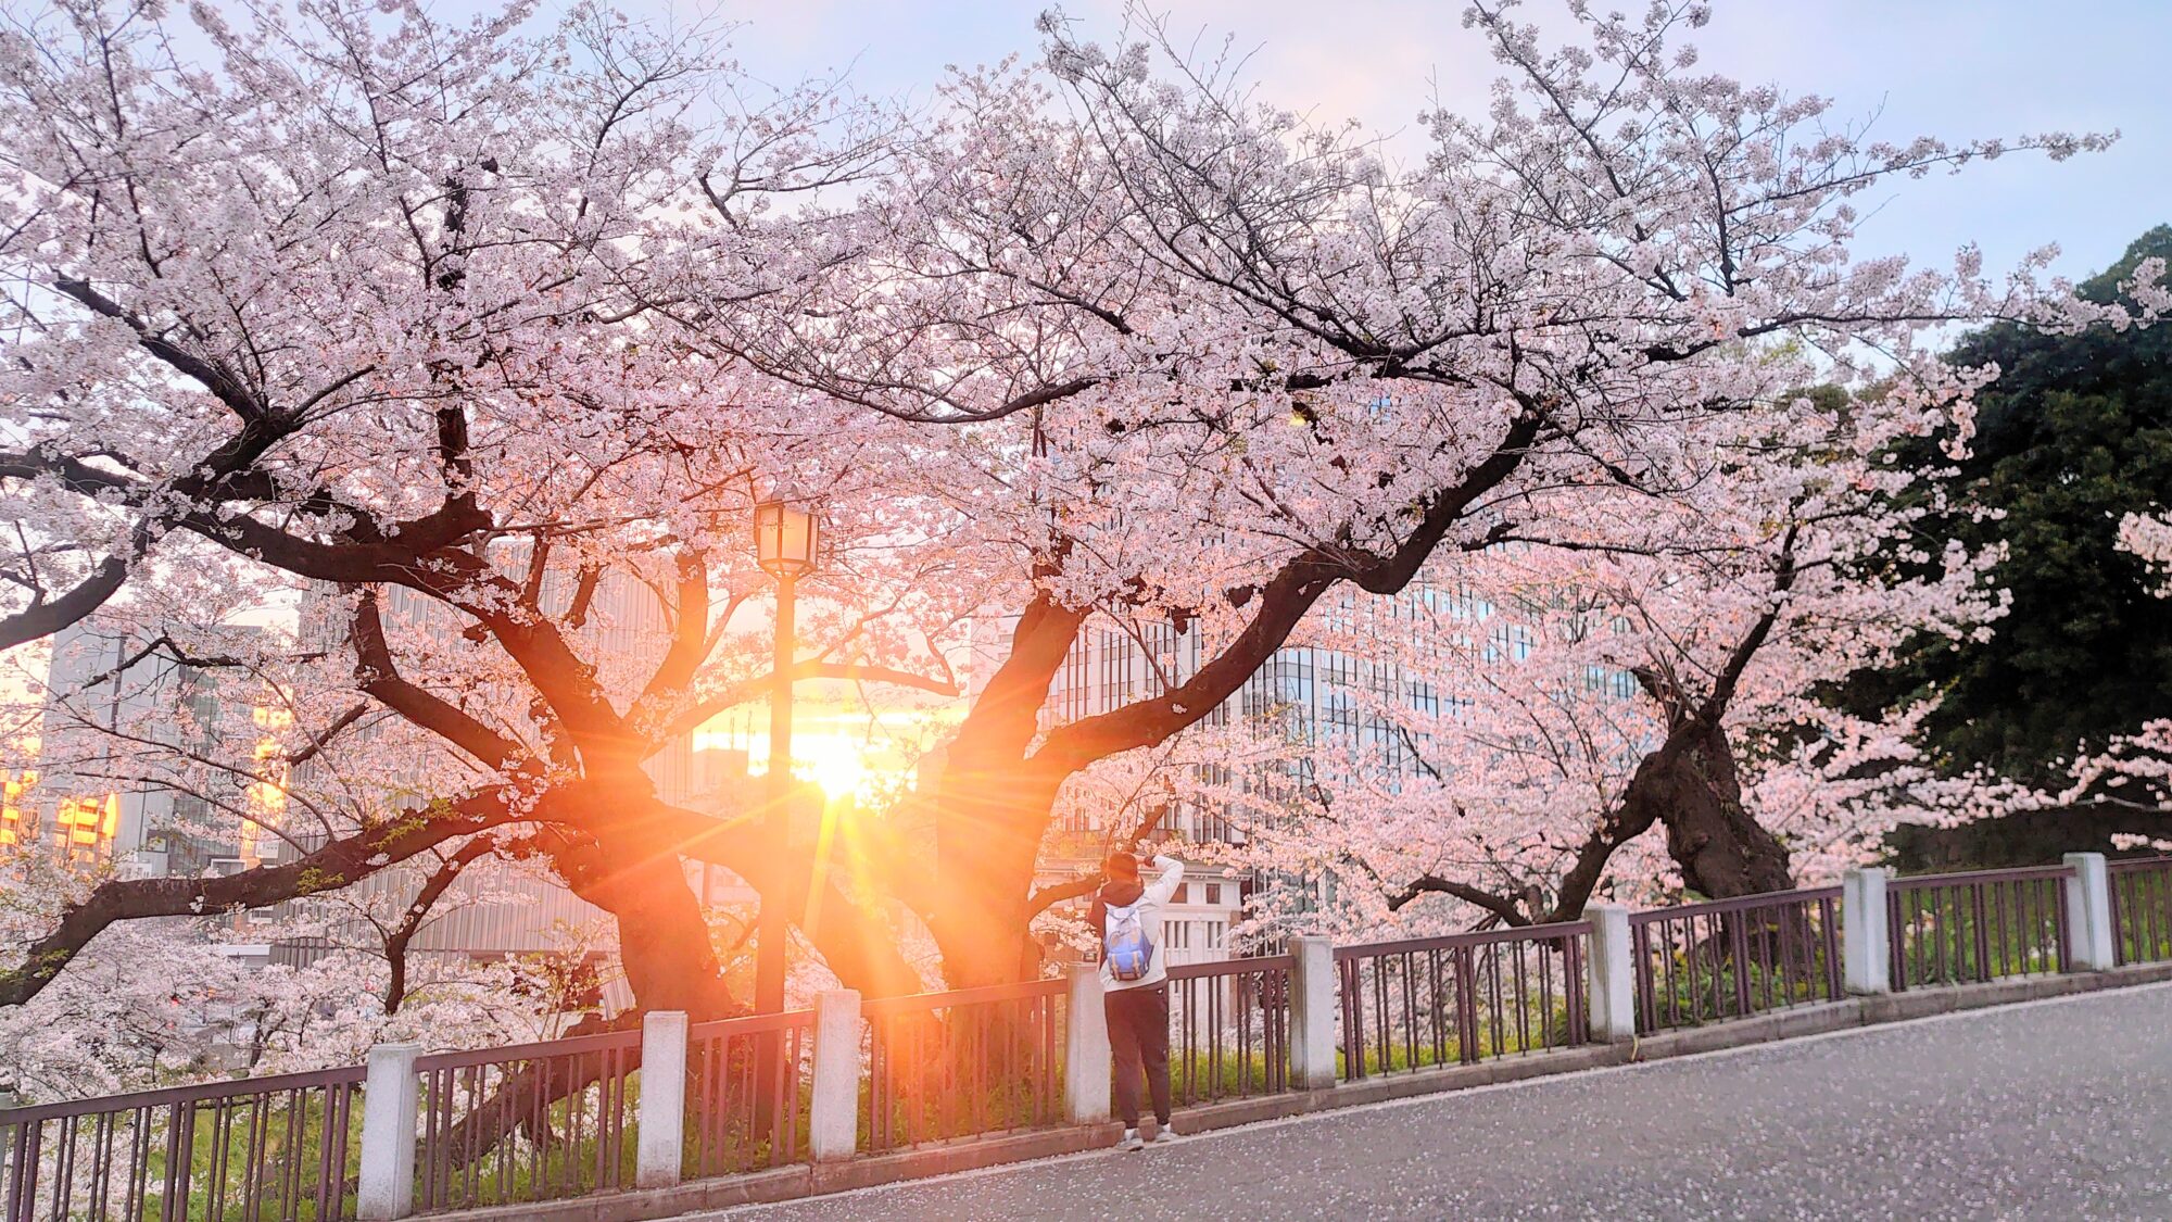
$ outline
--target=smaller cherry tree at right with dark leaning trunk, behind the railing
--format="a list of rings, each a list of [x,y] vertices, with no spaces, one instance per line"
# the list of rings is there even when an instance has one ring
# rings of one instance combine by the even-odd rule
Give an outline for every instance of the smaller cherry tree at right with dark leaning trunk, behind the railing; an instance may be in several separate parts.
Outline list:
[[[1937,472],[1885,454],[1924,428],[1966,424],[1831,391],[1714,417],[1692,498],[1555,489],[1544,533],[1436,559],[1386,615],[1310,624],[1299,641],[1347,659],[1342,718],[1242,857],[1329,876],[1334,902],[1271,894],[1266,922],[1573,920],[1601,891],[1757,894],[1874,857],[1931,781],[1920,709],[1864,722],[1820,689],[2000,613],[1996,552],[1870,568],[1922,550]]]

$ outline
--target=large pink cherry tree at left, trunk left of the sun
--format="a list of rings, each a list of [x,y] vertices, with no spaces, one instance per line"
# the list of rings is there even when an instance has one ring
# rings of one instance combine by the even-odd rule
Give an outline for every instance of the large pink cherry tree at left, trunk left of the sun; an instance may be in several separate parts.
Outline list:
[[[795,913],[810,874],[754,820],[660,802],[645,763],[767,691],[734,626],[762,589],[752,502],[836,498],[795,676],[949,687],[930,637],[971,583],[925,546],[934,522],[858,496],[873,467],[834,444],[841,409],[645,313],[819,267],[825,213],[775,204],[849,187],[888,122],[821,85],[765,96],[715,33],[599,7],[541,35],[526,7],[189,22],[206,63],[176,59],[156,4],[63,2],[0,35],[0,641],[98,618],[143,641],[130,665],[235,663],[280,709],[263,755],[130,750],[126,781],[280,787],[293,852],[70,896],[0,1002],[113,922],[434,855],[443,876],[482,835],[619,918],[643,1005],[734,1009],[682,857]],[[211,661],[237,602],[291,622]],[[849,896],[821,913],[806,933],[841,976],[917,987]]]

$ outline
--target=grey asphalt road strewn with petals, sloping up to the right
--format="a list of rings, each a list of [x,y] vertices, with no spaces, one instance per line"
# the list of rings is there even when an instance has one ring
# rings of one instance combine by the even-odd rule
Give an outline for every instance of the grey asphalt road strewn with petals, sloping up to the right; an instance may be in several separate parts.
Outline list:
[[[2172,987],[710,1218],[2172,1218]]]

